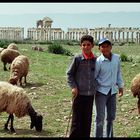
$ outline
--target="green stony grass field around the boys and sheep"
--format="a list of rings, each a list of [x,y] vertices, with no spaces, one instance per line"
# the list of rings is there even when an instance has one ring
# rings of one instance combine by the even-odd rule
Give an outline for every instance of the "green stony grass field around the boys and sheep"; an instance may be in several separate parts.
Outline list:
[[[38,52],[31,49],[30,44],[18,44],[19,51],[29,57],[30,69],[27,76],[28,84],[23,88],[27,91],[35,110],[43,115],[43,131],[36,132],[30,129],[30,118],[16,118],[14,127],[16,134],[5,132],[4,123],[7,114],[0,114],[0,137],[65,137],[71,110],[71,92],[66,83],[66,69],[71,57],[56,55],[47,52],[47,45],[42,45],[46,50]],[[79,53],[79,46],[64,46],[73,54]],[[98,47],[93,51],[99,54]],[[113,52],[133,57],[132,62],[122,62],[122,76],[125,82],[124,96],[117,98],[117,114],[114,122],[115,137],[140,137],[140,116],[137,112],[137,98],[130,92],[132,78],[140,72],[140,46],[113,46]],[[7,81],[9,71],[3,71],[0,63],[0,80]],[[93,113],[94,120],[94,113]],[[93,122],[94,123],[94,122]],[[70,127],[70,126],[69,126]],[[93,124],[91,136],[93,136]]]

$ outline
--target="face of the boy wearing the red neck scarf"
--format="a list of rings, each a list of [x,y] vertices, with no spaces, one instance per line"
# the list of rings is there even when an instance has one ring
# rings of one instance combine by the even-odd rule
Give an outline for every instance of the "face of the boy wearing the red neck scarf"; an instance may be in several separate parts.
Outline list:
[[[91,53],[92,48],[94,47],[94,45],[88,41],[88,40],[84,40],[81,45],[80,45],[82,51],[85,52],[85,54],[89,55]]]

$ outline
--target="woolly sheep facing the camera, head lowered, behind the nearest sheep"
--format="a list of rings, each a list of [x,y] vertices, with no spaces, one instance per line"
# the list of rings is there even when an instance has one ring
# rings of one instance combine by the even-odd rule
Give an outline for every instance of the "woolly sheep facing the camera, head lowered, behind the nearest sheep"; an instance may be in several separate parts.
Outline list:
[[[29,71],[29,59],[25,55],[17,56],[10,67],[10,78],[9,83],[17,85],[18,82],[22,86],[22,78],[24,77],[24,83],[26,84],[26,77]]]

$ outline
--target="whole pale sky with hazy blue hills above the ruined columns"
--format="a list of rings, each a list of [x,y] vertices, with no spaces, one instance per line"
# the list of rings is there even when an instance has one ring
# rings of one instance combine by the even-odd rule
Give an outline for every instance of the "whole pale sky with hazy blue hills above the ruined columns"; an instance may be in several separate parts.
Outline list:
[[[136,13],[134,13],[136,12]],[[52,28],[140,27],[140,3],[0,3],[0,27],[36,27],[49,17]]]

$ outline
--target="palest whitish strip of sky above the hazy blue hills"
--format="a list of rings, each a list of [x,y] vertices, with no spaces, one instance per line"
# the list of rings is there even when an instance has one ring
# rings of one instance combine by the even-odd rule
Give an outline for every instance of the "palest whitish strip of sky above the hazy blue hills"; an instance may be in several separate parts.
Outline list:
[[[18,11],[18,12],[17,12]],[[138,12],[140,3],[0,3],[0,14]]]

